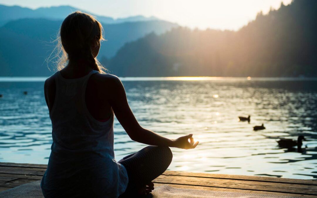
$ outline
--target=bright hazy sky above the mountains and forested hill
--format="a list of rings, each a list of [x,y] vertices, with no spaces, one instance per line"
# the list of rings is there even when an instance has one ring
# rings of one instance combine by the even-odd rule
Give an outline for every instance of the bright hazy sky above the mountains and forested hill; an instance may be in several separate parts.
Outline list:
[[[267,13],[292,0],[0,0],[0,4],[36,9],[70,5],[89,12],[111,16],[156,16],[191,28],[239,29],[255,19],[259,11]]]

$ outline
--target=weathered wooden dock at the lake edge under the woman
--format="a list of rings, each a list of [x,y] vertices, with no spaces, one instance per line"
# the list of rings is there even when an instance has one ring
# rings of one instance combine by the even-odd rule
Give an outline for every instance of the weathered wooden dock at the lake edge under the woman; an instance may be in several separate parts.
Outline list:
[[[0,191],[40,180],[44,164],[0,163]],[[165,171],[155,186],[213,191],[317,197],[317,180]]]

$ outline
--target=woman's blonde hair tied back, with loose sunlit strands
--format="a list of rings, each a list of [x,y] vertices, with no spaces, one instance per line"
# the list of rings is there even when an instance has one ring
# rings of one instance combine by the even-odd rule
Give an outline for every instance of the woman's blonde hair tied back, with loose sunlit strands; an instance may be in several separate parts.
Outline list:
[[[57,70],[64,68],[70,59],[84,59],[87,65],[100,73],[107,71],[94,57],[91,51],[91,43],[94,38],[99,41],[102,37],[103,28],[93,16],[81,11],[68,15],[61,24],[59,35],[55,42],[57,45],[50,54],[48,60],[56,60]],[[50,58],[55,53],[53,58]]]

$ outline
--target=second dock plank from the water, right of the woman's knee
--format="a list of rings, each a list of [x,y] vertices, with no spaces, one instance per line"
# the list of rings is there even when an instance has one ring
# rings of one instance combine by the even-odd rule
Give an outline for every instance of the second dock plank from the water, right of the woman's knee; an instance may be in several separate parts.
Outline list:
[[[165,176],[161,175],[154,180],[157,183],[170,184],[185,184],[190,186],[206,186],[217,188],[231,188],[244,190],[261,190],[269,192],[285,192],[285,193],[301,193],[304,195],[317,195],[316,186],[301,185],[301,184],[285,184],[258,182],[258,181],[243,181],[243,180],[228,180],[228,179],[210,179],[210,178],[195,178],[187,176]],[[305,192],[305,193],[304,193]]]

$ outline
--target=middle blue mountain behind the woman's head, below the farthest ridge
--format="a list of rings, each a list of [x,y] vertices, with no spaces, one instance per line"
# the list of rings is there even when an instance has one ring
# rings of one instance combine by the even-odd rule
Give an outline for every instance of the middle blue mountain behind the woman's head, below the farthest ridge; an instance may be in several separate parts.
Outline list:
[[[62,21],[25,18],[10,21],[0,28],[0,76],[49,76],[45,62],[54,49],[51,41]],[[98,58],[106,60],[126,42],[155,32],[161,34],[178,25],[166,21],[141,21],[105,24],[106,42],[101,44]],[[49,68],[52,68],[52,63]]]

